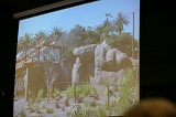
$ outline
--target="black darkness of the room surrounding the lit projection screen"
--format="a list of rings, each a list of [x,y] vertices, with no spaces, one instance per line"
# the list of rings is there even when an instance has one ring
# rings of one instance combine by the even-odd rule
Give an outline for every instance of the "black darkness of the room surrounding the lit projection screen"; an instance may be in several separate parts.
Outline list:
[[[58,1],[65,0],[1,0],[0,2],[1,117],[12,117],[13,115],[14,67],[19,26],[13,14]],[[87,1],[89,0],[79,0],[79,2],[68,3],[57,9],[78,6]],[[164,97],[176,103],[175,14],[174,0],[140,1],[140,99]]]

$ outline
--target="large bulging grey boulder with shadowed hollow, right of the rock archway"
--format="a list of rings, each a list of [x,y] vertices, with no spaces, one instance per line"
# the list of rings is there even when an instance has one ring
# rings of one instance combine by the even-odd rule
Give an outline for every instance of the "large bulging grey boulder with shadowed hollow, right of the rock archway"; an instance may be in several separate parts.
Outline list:
[[[120,85],[125,68],[132,66],[132,62],[127,54],[103,42],[97,45],[95,50],[95,78],[92,79],[96,83],[101,83],[109,78],[109,84],[112,85],[117,81],[117,84]]]

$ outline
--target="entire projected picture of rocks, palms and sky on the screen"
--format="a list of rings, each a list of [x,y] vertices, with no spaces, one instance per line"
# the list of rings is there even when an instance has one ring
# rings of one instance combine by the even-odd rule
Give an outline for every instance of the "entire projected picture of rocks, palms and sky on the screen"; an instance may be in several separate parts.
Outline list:
[[[14,117],[122,116],[140,102],[140,0],[21,20]]]

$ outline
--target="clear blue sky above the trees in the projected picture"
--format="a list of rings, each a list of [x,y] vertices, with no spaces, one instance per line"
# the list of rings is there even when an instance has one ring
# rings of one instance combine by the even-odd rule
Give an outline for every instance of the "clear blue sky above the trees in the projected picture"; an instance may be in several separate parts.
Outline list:
[[[102,24],[106,20],[106,13],[111,13],[114,20],[118,12],[122,11],[129,17],[130,24],[124,26],[124,32],[133,32],[133,17],[134,12],[134,39],[139,39],[140,33],[140,0],[99,0],[77,7],[72,7],[64,10],[58,10],[47,14],[33,17],[20,21],[19,38],[24,33],[32,33],[33,35],[40,30],[51,33],[54,26],[62,28],[63,31],[69,32],[76,24],[81,26],[92,26]]]

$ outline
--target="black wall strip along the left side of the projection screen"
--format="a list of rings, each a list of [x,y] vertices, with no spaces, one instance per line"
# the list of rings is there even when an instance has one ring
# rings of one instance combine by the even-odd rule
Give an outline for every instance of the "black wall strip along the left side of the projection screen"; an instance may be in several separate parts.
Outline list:
[[[11,10],[0,3],[0,117],[12,117],[18,22]]]

